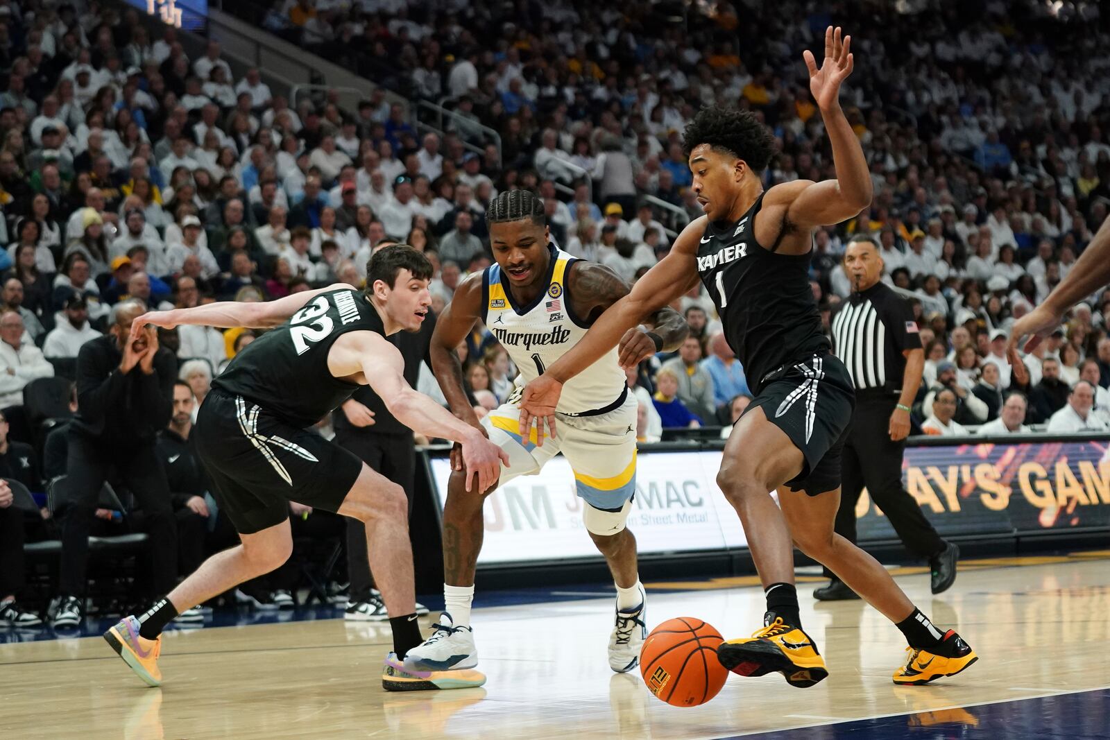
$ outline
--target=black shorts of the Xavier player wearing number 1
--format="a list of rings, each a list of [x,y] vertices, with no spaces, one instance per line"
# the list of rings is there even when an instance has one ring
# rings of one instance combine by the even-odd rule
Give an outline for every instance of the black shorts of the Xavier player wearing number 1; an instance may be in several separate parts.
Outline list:
[[[840,486],[840,454],[851,426],[856,392],[834,355],[810,355],[773,372],[751,402],[786,433],[806,462],[787,480],[791,490],[817,496]]]

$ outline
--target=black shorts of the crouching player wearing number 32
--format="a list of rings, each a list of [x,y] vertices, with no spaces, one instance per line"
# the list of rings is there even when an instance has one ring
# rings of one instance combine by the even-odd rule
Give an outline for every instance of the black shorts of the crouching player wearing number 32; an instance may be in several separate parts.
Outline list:
[[[337,511],[362,472],[351,452],[218,388],[192,436],[212,496],[241,535],[287,519],[289,501]]]

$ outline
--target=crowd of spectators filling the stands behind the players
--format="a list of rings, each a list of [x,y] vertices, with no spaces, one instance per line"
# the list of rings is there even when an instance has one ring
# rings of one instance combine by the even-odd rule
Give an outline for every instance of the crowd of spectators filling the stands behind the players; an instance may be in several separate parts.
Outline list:
[[[1093,3],[1071,19],[1035,2],[916,4],[928,11],[698,2],[682,22],[668,3],[625,1],[265,9],[265,28],[341,61],[370,53],[402,73],[403,91],[445,102],[454,115],[441,135],[418,131],[384,89],[357,110],[342,110],[334,93],[291,103],[260,70],[233,70],[218,43],[190,57],[178,31],[149,31],[132,8],[0,0],[0,468],[14,470],[7,450],[26,443],[16,457],[37,477],[6,477],[42,494],[67,473],[65,429],[43,438],[24,389],[70,378],[81,396],[84,348],[115,342],[131,301],[188,307],[361,286],[375,246],[394,240],[433,260],[442,311],[461,280],[491,264],[485,205],[516,187],[544,199],[559,246],[634,282],[700,214],[680,136],[712,103],[756,111],[774,130],[767,186],[834,178],[801,64],[830,12],[854,36],[844,107],[875,199],[816,233],[813,291],[826,324],[850,292],[845,245],[872,240],[884,280],[915,305],[924,432],[1106,429],[1110,294],[1080,304],[1025,356],[1027,384],[1002,348],[1012,322],[1072,268],[1108,213],[1107,21]],[[708,296],[694,290],[676,307],[690,338],[628,375],[645,440],[692,427],[727,434],[750,401]],[[151,418],[164,427],[157,444],[179,569],[222,530],[208,523],[200,468],[179,474],[171,464],[189,449],[186,417],[253,337],[159,333],[172,366],[160,376],[164,408]],[[458,353],[475,404],[484,412],[503,402],[515,368],[493,336],[475,332]],[[421,389],[438,393],[430,372]],[[90,413],[83,404],[75,398],[70,413]],[[6,500],[0,489],[0,526]],[[49,528],[53,509],[41,496],[38,505],[36,526]],[[93,514],[113,526],[111,511]],[[244,600],[292,604],[274,582],[286,581]],[[16,590],[0,584],[11,591],[0,592],[0,618],[27,624],[11,616]]]

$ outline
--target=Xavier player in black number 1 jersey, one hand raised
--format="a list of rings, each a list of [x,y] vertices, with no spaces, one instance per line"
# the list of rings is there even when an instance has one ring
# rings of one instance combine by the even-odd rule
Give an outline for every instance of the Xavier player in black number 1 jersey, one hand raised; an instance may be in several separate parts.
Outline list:
[[[926,683],[976,660],[952,631],[938,630],[869,555],[833,530],[840,499],[840,449],[851,418],[851,379],[829,354],[809,288],[811,230],[867,207],[871,181],[859,140],[838,102],[851,72],[850,39],[825,34],[825,62],[809,51],[810,90],[833,145],[836,180],[795,181],[764,192],[774,140],[751,113],[700,111],[686,126],[693,187],[705,216],[669,254],[605,312],[583,339],[525,388],[521,432],[549,428],[562,384],[617,344],[622,334],[700,281],[725,336],[756,392],[725,446],[717,484],[744,524],[767,596],[765,627],[720,646],[720,662],[741,676],[781,672],[809,687],[828,675],[801,630],[791,540],[827,566],[906,635],[909,661],[897,683]],[[630,358],[622,356],[622,362]],[[541,429],[543,433],[543,429]],[[779,506],[767,494],[777,489]]]

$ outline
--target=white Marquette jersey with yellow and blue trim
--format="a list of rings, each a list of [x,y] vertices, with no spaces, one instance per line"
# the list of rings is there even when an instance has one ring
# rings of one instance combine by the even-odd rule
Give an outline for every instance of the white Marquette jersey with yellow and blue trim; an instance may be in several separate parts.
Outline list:
[[[552,244],[547,249],[551,252],[547,288],[528,305],[518,306],[513,302],[508,278],[498,265],[491,265],[485,271],[483,321],[521,371],[517,386],[522,379],[528,383],[538,377],[588,328],[574,314],[566,291],[566,273],[576,257]],[[564,384],[556,410],[578,415],[607,408],[620,399],[625,388],[625,373],[617,363],[614,347]]]

